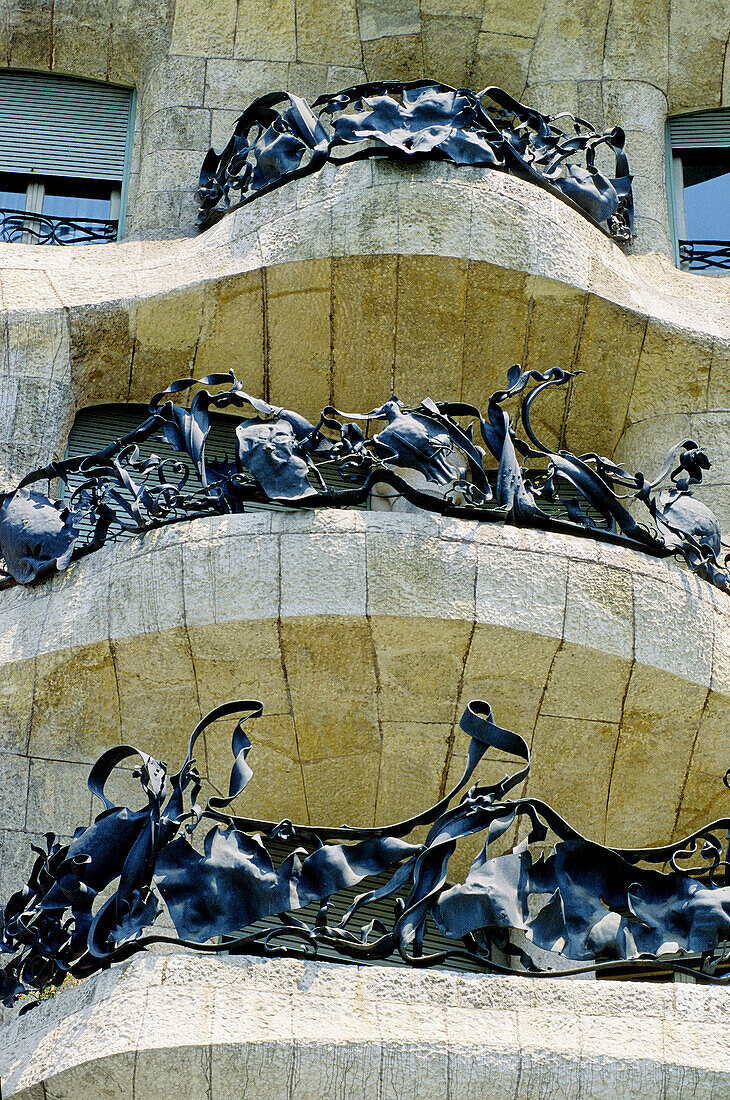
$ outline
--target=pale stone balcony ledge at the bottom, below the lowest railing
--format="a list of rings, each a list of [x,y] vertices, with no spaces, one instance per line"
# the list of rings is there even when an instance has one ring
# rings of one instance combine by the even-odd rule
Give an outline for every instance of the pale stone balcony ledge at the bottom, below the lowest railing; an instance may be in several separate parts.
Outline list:
[[[3,1027],[5,1100],[624,1100],[730,1090],[727,990],[137,959]]]

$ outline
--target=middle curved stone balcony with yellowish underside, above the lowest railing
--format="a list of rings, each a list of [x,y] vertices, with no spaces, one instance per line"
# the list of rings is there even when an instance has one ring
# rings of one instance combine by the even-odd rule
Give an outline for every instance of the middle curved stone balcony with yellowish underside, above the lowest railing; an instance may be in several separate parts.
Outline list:
[[[201,713],[235,697],[265,705],[242,813],[401,820],[461,773],[474,697],[531,741],[530,794],[588,836],[660,844],[727,812],[730,600],[678,564],[429,515],[258,513],[0,593],[0,891],[31,836],[99,812],[100,751],[174,767]],[[218,790],[226,729],[199,760]]]

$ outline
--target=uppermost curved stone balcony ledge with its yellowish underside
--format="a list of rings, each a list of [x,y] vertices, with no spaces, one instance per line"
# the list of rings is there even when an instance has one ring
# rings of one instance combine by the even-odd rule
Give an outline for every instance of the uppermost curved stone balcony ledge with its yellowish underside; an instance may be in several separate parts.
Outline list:
[[[498,172],[325,168],[195,240],[0,245],[0,286],[7,485],[64,453],[77,408],[146,402],[172,376],[232,362],[250,393],[296,393],[313,417],[394,388],[484,405],[513,362],[574,364],[586,375],[543,427],[575,453],[611,455],[648,415],[727,406],[729,285],[627,256]]]

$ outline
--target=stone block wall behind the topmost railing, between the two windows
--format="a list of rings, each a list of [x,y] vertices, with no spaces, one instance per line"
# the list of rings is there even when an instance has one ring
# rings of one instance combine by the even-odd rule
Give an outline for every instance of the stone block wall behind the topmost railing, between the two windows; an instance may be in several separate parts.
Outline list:
[[[133,235],[192,233],[202,156],[255,96],[428,76],[622,125],[637,249],[670,254],[664,122],[728,105],[729,21],[728,0],[55,0],[5,8],[0,56],[137,89]]]

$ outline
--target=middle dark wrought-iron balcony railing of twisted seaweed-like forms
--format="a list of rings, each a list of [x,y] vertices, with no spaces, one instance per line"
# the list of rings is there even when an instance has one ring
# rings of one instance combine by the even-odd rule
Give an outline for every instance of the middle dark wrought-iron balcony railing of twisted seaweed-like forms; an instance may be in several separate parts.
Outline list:
[[[29,584],[124,532],[262,504],[290,508],[407,507],[480,521],[584,535],[656,556],[679,556],[730,592],[720,527],[693,495],[709,459],[695,440],[673,447],[653,480],[609,459],[555,451],[531,424],[535,400],[575,374],[511,367],[486,416],[464,402],[396,397],[369,413],[322,410],[317,425],[246,394],[233,372],[180,378],[156,394],[137,428],[103,450],[33,471],[0,495],[3,583]],[[223,386],[224,388],[219,388]],[[212,387],[212,388],[207,388]],[[197,391],[185,408],[172,398]],[[214,392],[213,392],[214,391]],[[504,408],[521,398],[524,437]],[[211,410],[241,410],[234,455],[208,461]],[[163,438],[175,457],[140,458]],[[66,483],[62,499],[38,488]],[[71,486],[71,487],[69,487]],[[627,504],[643,506],[640,522]]]

